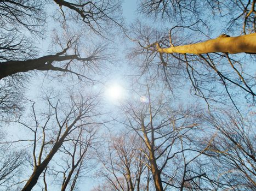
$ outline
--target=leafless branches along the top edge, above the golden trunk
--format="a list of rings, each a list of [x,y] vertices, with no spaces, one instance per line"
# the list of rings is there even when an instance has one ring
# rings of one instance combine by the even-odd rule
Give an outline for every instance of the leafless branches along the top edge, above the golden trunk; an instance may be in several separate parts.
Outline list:
[[[176,0],[141,0],[140,13],[153,19],[165,19],[178,22],[179,25],[187,25],[187,22],[204,19],[219,18],[221,26],[226,31],[241,26],[243,33],[255,32],[255,1],[176,1]]]

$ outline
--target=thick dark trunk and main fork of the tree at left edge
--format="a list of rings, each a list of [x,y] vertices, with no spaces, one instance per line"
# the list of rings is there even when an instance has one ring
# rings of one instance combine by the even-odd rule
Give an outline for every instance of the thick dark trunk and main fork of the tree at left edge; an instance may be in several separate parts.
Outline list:
[[[26,61],[7,61],[0,63],[0,80],[4,77],[31,70],[59,70],[69,71],[64,68],[54,67],[54,61],[67,61],[70,59],[85,60],[87,58],[79,58],[77,55],[47,55],[36,59],[28,59]]]

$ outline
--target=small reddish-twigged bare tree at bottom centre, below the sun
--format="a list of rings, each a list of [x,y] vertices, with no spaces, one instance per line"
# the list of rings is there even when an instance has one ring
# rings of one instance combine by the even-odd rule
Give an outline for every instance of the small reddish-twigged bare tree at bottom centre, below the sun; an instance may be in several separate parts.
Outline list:
[[[145,155],[141,141],[134,134],[120,133],[111,136],[106,152],[99,154],[103,164],[101,173],[106,183],[93,190],[147,190],[149,179],[146,175]]]

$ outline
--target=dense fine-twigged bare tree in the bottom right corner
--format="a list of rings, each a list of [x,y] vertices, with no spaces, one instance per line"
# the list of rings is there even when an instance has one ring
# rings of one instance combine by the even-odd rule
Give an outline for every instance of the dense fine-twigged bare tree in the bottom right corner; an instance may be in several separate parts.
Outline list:
[[[254,190],[256,185],[255,132],[250,118],[231,112],[206,116],[209,127],[217,131],[206,153],[216,166],[215,176],[232,190]]]

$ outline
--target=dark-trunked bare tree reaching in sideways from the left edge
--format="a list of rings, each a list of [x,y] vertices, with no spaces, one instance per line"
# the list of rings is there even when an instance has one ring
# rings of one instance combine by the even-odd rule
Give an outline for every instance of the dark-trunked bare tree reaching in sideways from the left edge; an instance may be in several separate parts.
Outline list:
[[[76,39],[77,40],[77,39]],[[72,65],[75,65],[73,62],[78,61],[82,62],[82,68],[90,67],[90,64],[95,64],[98,60],[105,60],[107,59],[107,56],[104,57],[104,55],[100,55],[100,53],[103,52],[103,47],[99,46],[96,47],[94,52],[92,52],[92,55],[88,57],[80,57],[78,53],[74,53],[72,55],[67,55],[67,51],[71,49],[71,46],[77,46],[77,41],[69,40],[67,42],[67,46],[64,50],[61,52],[56,53],[55,55],[47,55],[43,57],[39,57],[36,59],[27,59],[26,61],[6,61],[2,62],[0,64],[0,79],[3,79],[4,77],[14,75],[16,73],[24,73],[31,70],[53,70],[53,71],[61,71],[64,73],[72,73],[80,77],[85,77],[85,79],[88,79],[85,75],[79,74],[76,71],[72,71],[72,69],[69,69],[72,67]],[[77,52],[78,50],[75,50]],[[61,67],[56,67],[53,65],[54,62],[61,62],[66,61],[67,63],[62,64]]]

